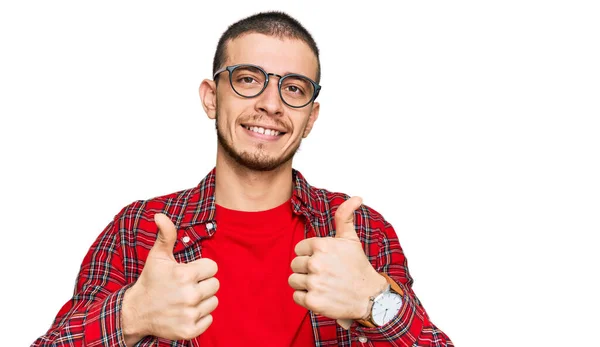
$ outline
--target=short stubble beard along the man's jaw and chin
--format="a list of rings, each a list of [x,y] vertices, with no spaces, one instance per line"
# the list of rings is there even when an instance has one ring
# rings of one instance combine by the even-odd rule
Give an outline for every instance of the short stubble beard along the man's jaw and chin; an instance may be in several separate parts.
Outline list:
[[[269,156],[265,153],[264,144],[259,143],[256,145],[256,148],[253,152],[249,151],[238,151],[236,150],[231,143],[227,141],[225,136],[222,133],[222,130],[219,129],[219,116],[218,111],[215,117],[215,128],[217,129],[217,139],[219,141],[219,145],[225,150],[225,153],[232,158],[237,164],[242,167],[248,168],[253,171],[273,171],[288,161],[292,160],[298,149],[300,148],[300,143],[302,140],[298,142],[295,148],[279,158]]]

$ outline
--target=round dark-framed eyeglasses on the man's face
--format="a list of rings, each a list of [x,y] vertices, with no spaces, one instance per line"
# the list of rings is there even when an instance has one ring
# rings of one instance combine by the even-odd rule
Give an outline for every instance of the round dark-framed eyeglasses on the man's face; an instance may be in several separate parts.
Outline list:
[[[283,102],[293,108],[304,107],[319,95],[321,86],[306,76],[287,74],[284,76],[266,72],[261,67],[250,64],[227,66],[215,72],[213,79],[224,71],[229,71],[229,84],[233,91],[244,98],[259,96],[269,84],[269,76],[279,77],[277,89]]]

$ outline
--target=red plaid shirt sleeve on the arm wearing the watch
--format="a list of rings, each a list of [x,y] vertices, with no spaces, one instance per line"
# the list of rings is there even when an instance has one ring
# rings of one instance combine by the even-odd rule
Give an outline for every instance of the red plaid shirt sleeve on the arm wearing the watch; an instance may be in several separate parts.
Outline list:
[[[413,280],[394,228],[386,222],[382,238],[369,247],[372,254],[377,254],[376,270],[387,273],[396,281],[402,288],[404,297],[400,312],[386,325],[368,328],[355,324],[352,335],[358,346],[454,346],[450,338],[431,323],[425,308],[413,292]]]

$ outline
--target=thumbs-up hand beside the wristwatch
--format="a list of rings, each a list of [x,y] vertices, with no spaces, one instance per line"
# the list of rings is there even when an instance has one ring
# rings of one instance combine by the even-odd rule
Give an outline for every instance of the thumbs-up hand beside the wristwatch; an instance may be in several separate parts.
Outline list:
[[[298,242],[289,285],[294,301],[315,313],[336,319],[345,329],[352,320],[369,314],[369,297],[385,286],[371,266],[354,228],[354,211],[362,199],[352,197],[335,213],[335,237],[314,237]]]

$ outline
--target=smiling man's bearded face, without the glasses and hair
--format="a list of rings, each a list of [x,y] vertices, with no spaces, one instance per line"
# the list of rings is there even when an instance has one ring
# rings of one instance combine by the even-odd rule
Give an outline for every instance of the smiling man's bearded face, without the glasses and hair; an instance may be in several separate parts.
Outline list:
[[[226,53],[224,66],[253,64],[281,76],[297,73],[316,79],[317,58],[300,40],[251,33],[230,41]],[[202,97],[205,109],[207,96],[215,99],[214,109],[209,107],[207,113],[216,119],[219,150],[224,152],[221,154],[257,171],[291,165],[302,138],[308,136],[318,116],[319,104],[302,108],[286,105],[279,96],[276,76],[270,76],[266,89],[254,98],[244,98],[233,91],[228,71],[216,79],[216,93]]]

